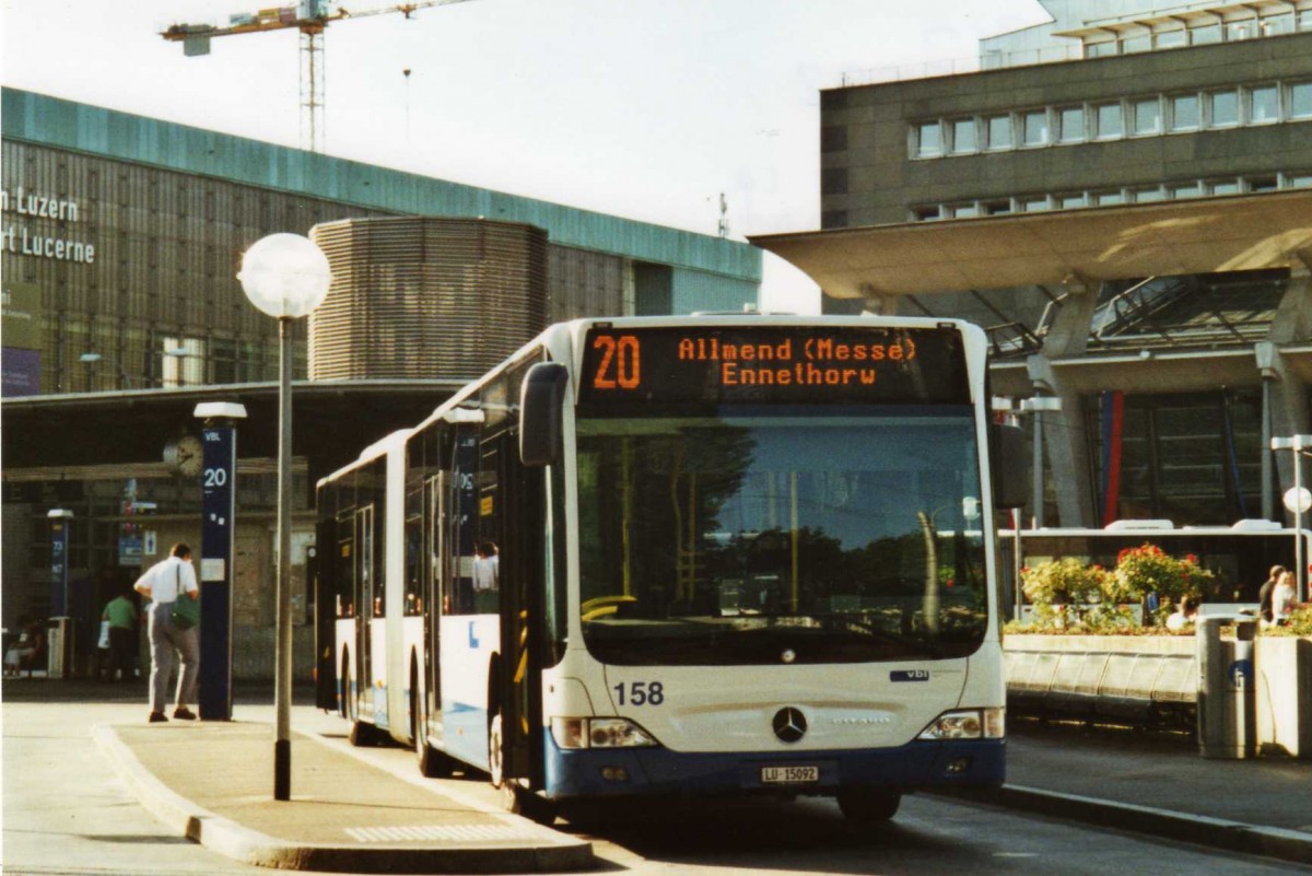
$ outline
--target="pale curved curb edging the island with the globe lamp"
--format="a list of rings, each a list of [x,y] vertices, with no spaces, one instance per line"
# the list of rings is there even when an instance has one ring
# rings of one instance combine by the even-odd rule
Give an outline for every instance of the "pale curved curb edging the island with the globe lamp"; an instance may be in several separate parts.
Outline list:
[[[113,727],[98,724],[92,729],[92,737],[151,814],[188,839],[244,864],[358,873],[550,872],[588,869],[594,864],[590,843],[518,848],[366,848],[276,839],[173,792],[142,766]]]

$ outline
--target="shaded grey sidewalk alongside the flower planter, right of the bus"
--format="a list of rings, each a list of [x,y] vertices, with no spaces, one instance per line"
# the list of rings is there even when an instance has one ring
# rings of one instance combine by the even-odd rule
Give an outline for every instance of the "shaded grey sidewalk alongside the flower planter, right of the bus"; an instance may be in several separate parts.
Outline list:
[[[1185,736],[1014,723],[992,803],[1312,864],[1312,761],[1203,759]]]

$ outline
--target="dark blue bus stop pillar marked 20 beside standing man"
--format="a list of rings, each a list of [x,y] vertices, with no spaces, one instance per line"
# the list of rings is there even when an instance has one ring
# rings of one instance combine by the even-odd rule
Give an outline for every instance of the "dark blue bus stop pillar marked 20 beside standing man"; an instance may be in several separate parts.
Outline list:
[[[232,526],[237,433],[227,421],[201,430],[201,719],[232,720]]]

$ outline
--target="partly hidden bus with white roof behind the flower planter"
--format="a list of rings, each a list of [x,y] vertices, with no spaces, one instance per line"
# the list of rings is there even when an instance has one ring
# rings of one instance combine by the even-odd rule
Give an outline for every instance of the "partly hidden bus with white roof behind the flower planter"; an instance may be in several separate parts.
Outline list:
[[[1298,568],[1302,542],[1303,561],[1312,561],[1312,532],[1282,527],[1274,521],[1245,519],[1232,526],[1181,526],[1170,521],[1115,521],[1103,528],[1002,530],[1002,580],[1010,614],[1025,614],[1025,599],[1014,603],[1015,570],[1047,560],[1076,557],[1088,565],[1113,569],[1127,548],[1156,544],[1174,557],[1195,556],[1212,573],[1200,614],[1256,611],[1257,591],[1271,567]],[[1307,598],[1307,585],[1299,599]]]

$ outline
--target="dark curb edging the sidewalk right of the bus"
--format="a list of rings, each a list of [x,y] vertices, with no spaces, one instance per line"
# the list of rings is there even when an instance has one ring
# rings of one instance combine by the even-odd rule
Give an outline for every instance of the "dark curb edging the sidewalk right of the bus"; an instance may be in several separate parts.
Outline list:
[[[1266,855],[1312,864],[1312,834],[1283,827],[1262,827],[1242,821],[1191,816],[1170,809],[1139,806],[1057,791],[1014,784],[991,791],[951,791],[945,796],[988,803],[1056,818],[1084,821],[1102,827],[1152,834],[1166,839],[1211,846],[1246,855]]]

